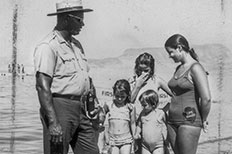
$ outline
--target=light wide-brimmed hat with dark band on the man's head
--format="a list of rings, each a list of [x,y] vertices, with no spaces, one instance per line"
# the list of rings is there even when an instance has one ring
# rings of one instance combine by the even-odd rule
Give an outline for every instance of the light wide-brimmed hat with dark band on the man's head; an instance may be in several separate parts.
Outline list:
[[[47,14],[47,16],[53,16],[67,12],[91,12],[91,11],[93,10],[89,8],[83,8],[81,0],[76,0],[76,1],[65,0],[60,3],[56,3],[56,12],[49,13]]]

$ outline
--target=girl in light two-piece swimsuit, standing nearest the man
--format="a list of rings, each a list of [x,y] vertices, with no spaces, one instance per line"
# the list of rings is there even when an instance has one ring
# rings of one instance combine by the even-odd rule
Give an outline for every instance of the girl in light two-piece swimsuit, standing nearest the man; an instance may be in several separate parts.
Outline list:
[[[108,113],[106,143],[111,154],[130,154],[135,132],[135,108],[131,104],[130,84],[127,80],[116,81],[113,87],[113,101],[103,106]]]

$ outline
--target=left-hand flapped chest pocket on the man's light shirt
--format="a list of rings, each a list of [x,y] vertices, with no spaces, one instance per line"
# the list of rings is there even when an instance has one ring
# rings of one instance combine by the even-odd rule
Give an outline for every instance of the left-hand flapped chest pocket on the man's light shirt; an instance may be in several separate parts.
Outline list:
[[[58,53],[59,54],[59,62],[57,73],[62,75],[72,75],[77,72],[76,69],[76,59],[74,55],[68,53]]]

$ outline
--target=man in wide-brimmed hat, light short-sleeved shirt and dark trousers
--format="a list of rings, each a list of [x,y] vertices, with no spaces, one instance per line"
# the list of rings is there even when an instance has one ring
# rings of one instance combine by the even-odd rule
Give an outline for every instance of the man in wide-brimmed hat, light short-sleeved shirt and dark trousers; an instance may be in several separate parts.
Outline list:
[[[96,130],[82,102],[91,87],[89,67],[72,37],[84,26],[84,13],[93,10],[84,9],[80,0],[57,3],[56,9],[48,16],[57,15],[57,24],[34,53],[44,153],[67,154],[71,145],[74,154],[98,154]]]

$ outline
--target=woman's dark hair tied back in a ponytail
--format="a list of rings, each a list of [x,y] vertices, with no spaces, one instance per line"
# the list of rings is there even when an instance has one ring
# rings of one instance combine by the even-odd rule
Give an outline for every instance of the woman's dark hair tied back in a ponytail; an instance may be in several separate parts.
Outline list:
[[[195,53],[194,49],[189,47],[187,39],[180,34],[174,34],[169,37],[164,46],[165,48],[170,47],[173,49],[177,49],[178,45],[180,45],[184,49],[184,51],[188,52],[193,59],[199,62],[198,55]]]

